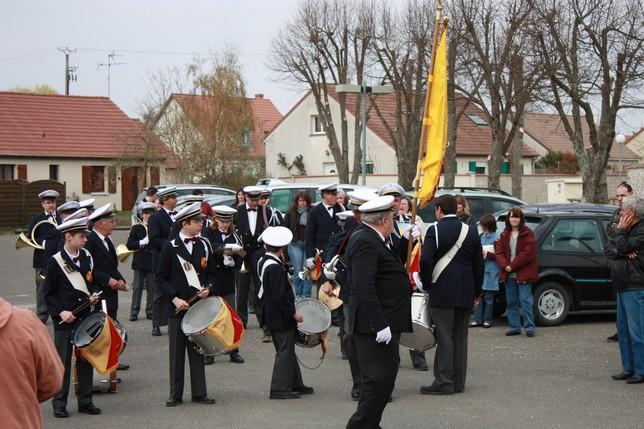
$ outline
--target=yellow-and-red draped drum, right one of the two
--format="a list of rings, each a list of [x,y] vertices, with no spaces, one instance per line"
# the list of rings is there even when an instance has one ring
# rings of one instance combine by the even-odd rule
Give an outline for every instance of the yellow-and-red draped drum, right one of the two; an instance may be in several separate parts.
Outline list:
[[[217,356],[239,348],[244,325],[237,313],[221,297],[197,301],[183,316],[183,333],[206,356]]]

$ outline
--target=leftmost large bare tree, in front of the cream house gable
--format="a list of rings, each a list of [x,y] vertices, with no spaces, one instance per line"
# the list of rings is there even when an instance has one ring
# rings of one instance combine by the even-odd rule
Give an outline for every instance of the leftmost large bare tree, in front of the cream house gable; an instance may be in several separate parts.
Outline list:
[[[333,85],[363,84],[373,34],[372,10],[373,5],[366,0],[305,0],[272,42],[270,67],[281,78],[302,84],[313,95],[341,182],[357,183],[360,174],[360,100],[338,93],[340,122],[336,123],[329,96]],[[351,164],[349,99],[353,100],[350,111],[356,118]]]

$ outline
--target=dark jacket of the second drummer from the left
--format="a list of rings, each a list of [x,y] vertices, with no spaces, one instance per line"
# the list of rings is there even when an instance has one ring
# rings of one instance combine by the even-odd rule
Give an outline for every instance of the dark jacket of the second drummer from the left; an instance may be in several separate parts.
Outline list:
[[[188,279],[186,279],[177,255],[192,263],[201,283],[199,286],[210,288],[210,294],[212,295],[212,285],[215,281],[215,265],[210,244],[205,238],[199,237],[192,247],[191,255],[183,242],[177,237],[166,241],[159,255],[159,267],[156,273],[157,286],[161,288],[168,299],[169,314],[170,318],[173,319],[182,318],[185,311],[176,314],[172,299],[179,297],[188,301],[198,293],[197,289],[188,284]],[[205,264],[202,264],[204,258]]]

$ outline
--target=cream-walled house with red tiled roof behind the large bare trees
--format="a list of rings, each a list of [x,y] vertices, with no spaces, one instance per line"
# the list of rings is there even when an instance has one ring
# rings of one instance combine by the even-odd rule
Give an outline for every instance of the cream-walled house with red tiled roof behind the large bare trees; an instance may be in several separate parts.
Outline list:
[[[340,104],[335,88],[330,86],[329,103],[335,124],[340,122]],[[353,106],[356,94],[347,94],[347,122],[349,141],[349,160],[353,159],[354,124],[356,121]],[[371,95],[369,103],[376,103],[386,122],[394,124],[395,95]],[[465,103],[458,99],[458,108]],[[389,120],[388,118],[391,118]],[[339,133],[339,127],[336,127]],[[340,140],[340,138],[338,138]],[[367,180],[373,186],[397,179],[397,159],[393,140],[385,123],[380,119],[373,106],[368,107],[367,118]],[[291,178],[297,170],[284,166],[302,155],[306,170],[306,180],[328,181],[337,174],[337,167],[328,146],[328,139],[318,115],[315,99],[307,92],[284,118],[270,132],[264,141],[266,146],[266,174],[268,177]],[[458,124],[456,139],[457,175],[486,174],[487,157],[492,148],[492,133],[484,112],[474,103],[465,109]],[[531,174],[537,153],[530,147],[523,149],[523,170]],[[280,160],[280,158],[282,158]],[[284,159],[285,158],[285,159]],[[350,163],[351,165],[351,163]],[[509,164],[502,166],[502,173],[509,172]]]

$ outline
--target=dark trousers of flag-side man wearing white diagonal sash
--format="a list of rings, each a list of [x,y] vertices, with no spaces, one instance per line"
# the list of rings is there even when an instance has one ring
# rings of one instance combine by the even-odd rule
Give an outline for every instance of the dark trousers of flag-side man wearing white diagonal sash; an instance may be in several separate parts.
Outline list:
[[[467,333],[471,308],[431,307],[436,324],[433,386],[462,392],[467,373]]]

